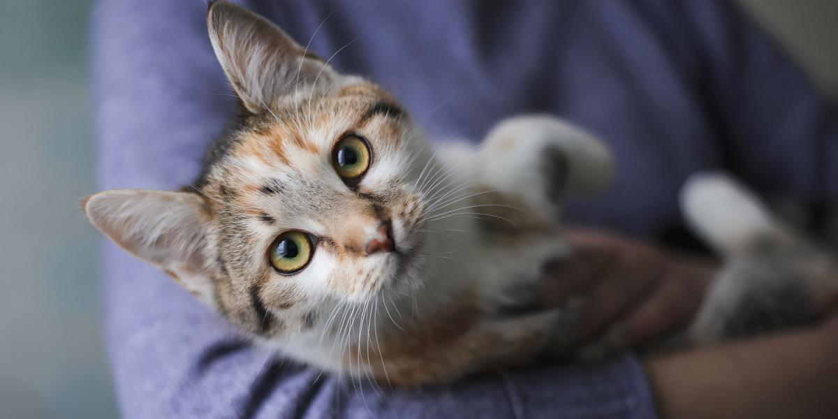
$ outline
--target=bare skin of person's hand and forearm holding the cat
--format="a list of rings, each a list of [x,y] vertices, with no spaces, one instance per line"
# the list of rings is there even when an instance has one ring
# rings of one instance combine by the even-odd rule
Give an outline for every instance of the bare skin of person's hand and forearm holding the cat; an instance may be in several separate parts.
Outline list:
[[[619,334],[626,347],[685,323],[716,272],[713,261],[648,244],[573,230],[576,256],[546,269],[543,302],[590,298],[582,338]],[[561,281],[558,278],[562,278]],[[821,308],[824,318],[830,308]],[[660,416],[677,418],[835,417],[838,320],[715,347],[648,356]]]

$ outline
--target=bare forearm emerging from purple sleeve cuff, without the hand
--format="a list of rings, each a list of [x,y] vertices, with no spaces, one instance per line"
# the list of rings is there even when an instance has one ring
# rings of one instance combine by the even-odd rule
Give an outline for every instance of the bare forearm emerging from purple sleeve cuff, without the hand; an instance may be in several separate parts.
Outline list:
[[[645,361],[664,418],[835,417],[838,328]]]

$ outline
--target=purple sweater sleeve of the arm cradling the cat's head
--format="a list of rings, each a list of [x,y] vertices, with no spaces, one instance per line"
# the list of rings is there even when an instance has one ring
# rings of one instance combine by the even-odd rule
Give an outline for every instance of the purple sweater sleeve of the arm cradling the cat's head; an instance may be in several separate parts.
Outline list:
[[[99,183],[174,189],[234,103],[206,4],[101,0],[94,14]],[[125,417],[652,417],[637,360],[488,375],[422,391],[349,385],[246,344],[153,267],[103,250],[106,340]]]

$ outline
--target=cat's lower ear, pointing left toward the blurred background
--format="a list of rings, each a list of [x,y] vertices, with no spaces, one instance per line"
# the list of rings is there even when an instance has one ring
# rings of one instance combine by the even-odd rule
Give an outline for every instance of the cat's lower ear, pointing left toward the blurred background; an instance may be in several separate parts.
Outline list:
[[[91,224],[111,241],[213,304],[215,258],[205,253],[209,216],[198,194],[109,190],[85,199],[82,206]]]

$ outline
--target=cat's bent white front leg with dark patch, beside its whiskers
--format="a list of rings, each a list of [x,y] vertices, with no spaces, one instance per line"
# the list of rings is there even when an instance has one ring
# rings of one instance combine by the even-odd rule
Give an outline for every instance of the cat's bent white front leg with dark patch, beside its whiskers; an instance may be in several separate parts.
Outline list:
[[[537,228],[555,224],[566,194],[596,194],[613,177],[613,160],[592,134],[551,116],[517,116],[500,122],[486,137],[476,168],[486,209]],[[490,207],[487,207],[490,208]]]

